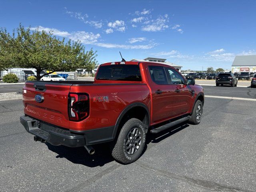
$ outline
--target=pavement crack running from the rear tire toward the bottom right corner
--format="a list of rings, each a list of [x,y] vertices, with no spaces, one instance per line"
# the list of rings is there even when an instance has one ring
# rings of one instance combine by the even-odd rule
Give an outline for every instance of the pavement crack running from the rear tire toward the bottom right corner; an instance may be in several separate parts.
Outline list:
[[[232,187],[232,186],[225,186],[225,185],[221,185],[218,184],[216,182],[211,182],[211,181],[206,181],[206,180],[200,180],[200,179],[194,179],[194,178],[190,178],[188,176],[180,176],[178,174],[174,174],[165,170],[160,170],[160,169],[156,169],[153,168],[151,166],[148,166],[148,164],[144,164],[141,161],[137,160],[135,162],[135,164],[137,164],[138,166],[150,170],[152,172],[155,172],[158,175],[167,177],[167,178],[172,178],[175,180],[180,180],[182,182],[186,182],[189,183],[193,186],[199,186],[201,188],[205,188],[208,190],[213,190],[213,191],[230,191],[230,192],[250,192],[250,190],[244,190],[241,188],[237,188],[237,187]]]

